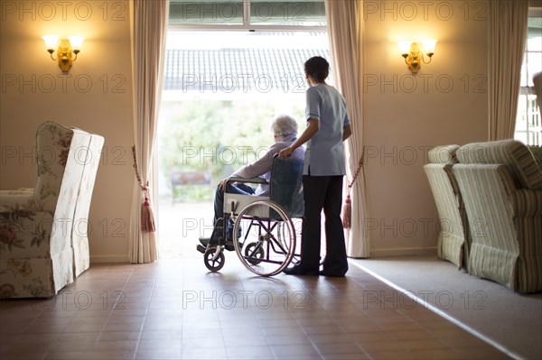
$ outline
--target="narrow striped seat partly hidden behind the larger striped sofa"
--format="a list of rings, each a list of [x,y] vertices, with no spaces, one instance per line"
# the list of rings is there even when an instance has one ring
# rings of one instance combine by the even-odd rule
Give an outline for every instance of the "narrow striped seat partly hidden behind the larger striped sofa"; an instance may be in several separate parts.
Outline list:
[[[428,153],[424,166],[440,222],[437,255],[454,263],[459,269],[468,263],[468,231],[463,197],[453,176],[459,145],[437,146]]]

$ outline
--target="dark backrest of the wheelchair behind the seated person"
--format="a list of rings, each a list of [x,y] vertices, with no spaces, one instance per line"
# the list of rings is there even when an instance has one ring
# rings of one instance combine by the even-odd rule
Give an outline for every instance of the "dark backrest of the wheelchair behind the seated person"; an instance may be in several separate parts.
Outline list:
[[[275,157],[271,170],[269,198],[283,207],[289,217],[304,216],[303,160]],[[271,211],[272,218],[278,217]]]

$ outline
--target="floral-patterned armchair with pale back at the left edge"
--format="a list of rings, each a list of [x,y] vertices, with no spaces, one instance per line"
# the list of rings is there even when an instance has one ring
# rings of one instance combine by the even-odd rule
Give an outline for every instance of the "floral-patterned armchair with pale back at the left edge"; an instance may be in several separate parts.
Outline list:
[[[95,175],[84,177],[97,166],[89,156],[99,158],[89,151],[93,136],[98,135],[43,123],[36,134],[35,189],[0,191],[0,298],[51,297],[73,282],[79,257],[74,249],[80,245],[73,243],[74,223],[76,215],[88,213],[84,205],[78,211],[78,201],[81,193],[89,197],[94,183]]]

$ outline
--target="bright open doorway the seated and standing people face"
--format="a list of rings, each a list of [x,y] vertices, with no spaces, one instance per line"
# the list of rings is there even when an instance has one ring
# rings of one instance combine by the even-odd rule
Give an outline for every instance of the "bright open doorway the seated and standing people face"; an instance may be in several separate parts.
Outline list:
[[[201,256],[218,182],[273,142],[289,114],[303,132],[303,64],[329,59],[325,32],[170,32],[155,151],[163,258]]]

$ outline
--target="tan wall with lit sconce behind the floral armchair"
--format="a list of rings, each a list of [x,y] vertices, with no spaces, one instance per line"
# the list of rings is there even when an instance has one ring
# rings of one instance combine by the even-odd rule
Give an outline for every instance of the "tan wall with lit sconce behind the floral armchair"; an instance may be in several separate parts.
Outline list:
[[[103,135],[89,215],[91,260],[127,261],[134,179],[128,2],[3,1],[1,6],[0,188],[34,186],[35,130],[42,122]],[[45,51],[45,34],[86,38],[69,74]]]

